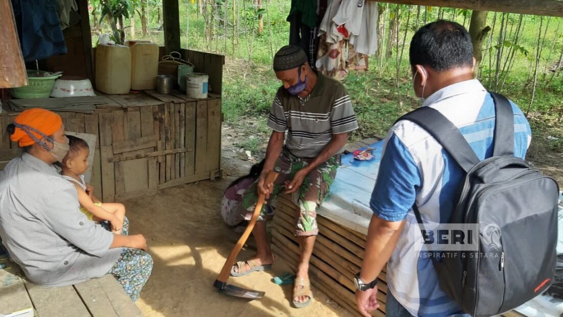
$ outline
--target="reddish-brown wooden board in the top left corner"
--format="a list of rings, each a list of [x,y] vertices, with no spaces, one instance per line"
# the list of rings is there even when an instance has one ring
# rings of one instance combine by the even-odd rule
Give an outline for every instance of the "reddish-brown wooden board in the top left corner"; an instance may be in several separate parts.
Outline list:
[[[28,84],[11,1],[0,2],[0,88]]]

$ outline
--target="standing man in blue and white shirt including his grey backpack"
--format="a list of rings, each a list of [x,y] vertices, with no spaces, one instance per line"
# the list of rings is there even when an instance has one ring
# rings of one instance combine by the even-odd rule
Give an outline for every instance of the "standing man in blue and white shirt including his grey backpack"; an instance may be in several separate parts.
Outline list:
[[[473,48],[463,26],[444,20],[423,26],[410,43],[410,64],[422,107],[397,120],[386,139],[370,200],[374,215],[365,257],[355,277],[358,308],[370,316],[379,307],[377,276],[387,262],[385,309],[389,316],[494,315],[490,312],[512,309],[551,283],[557,184],[523,161],[531,131],[522,111],[473,79]],[[493,173],[485,174],[481,166]],[[471,182],[460,196],[466,175]],[[533,179],[519,178],[530,175]],[[488,201],[496,207],[486,206],[483,211],[481,205],[467,204],[471,195],[476,202],[491,197],[486,191],[479,195],[477,189],[506,182],[518,182],[510,183],[517,190],[499,187],[501,195]],[[481,183],[487,184],[478,187]],[[528,185],[528,191],[520,190],[521,184]],[[528,194],[542,196],[544,203],[528,206]],[[478,256],[469,258],[467,252],[446,253],[451,259],[436,258],[440,253],[421,251],[421,245],[439,239],[438,234],[423,236],[419,223],[431,227],[479,224],[480,234],[473,236],[480,243],[479,252],[494,258],[477,262]],[[483,224],[491,226],[484,230]],[[507,236],[514,234],[510,231],[514,228],[520,230],[519,239]],[[483,243],[486,238],[489,243]],[[543,242],[526,240],[533,238]],[[530,259],[535,263],[529,267],[535,270],[522,272],[522,263]]]

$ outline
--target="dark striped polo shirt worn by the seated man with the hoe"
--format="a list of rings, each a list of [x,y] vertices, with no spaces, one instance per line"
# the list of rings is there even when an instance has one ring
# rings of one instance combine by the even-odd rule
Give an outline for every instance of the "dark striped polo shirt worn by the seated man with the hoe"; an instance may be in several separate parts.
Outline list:
[[[317,73],[315,88],[305,99],[280,87],[270,109],[268,126],[287,133],[285,147],[300,158],[315,158],[333,134],[356,130],[358,122],[342,83]]]

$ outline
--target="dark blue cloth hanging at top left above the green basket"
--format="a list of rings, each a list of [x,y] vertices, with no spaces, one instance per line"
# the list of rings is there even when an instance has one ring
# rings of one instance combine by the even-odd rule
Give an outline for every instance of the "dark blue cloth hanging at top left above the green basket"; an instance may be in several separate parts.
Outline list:
[[[56,0],[12,0],[25,61],[66,54]]]

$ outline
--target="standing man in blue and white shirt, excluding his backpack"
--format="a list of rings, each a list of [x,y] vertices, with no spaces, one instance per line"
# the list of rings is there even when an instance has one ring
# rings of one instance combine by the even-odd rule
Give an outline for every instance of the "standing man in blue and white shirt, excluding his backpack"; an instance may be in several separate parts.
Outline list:
[[[410,65],[422,106],[450,120],[480,160],[491,157],[495,105],[485,87],[473,79],[475,59],[467,30],[444,20],[423,26],[410,43]],[[530,125],[516,105],[512,110],[514,154],[523,158],[531,140]],[[468,316],[440,288],[432,263],[432,255],[438,253],[421,251],[421,230],[412,209],[416,203],[427,224],[447,224],[464,175],[418,124],[399,120],[391,128],[370,201],[374,215],[364,261],[356,276],[356,301],[364,316],[378,307],[377,276],[387,261],[388,316]]]

